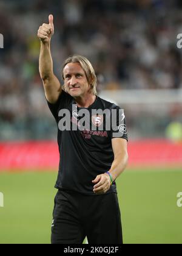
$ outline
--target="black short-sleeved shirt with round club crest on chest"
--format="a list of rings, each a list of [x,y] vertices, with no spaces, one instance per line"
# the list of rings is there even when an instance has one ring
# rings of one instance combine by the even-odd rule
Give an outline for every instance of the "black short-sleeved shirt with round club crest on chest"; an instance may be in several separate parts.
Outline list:
[[[56,104],[48,105],[58,125],[60,161],[55,188],[94,194],[92,180],[109,171],[114,160],[112,138],[127,140],[123,110],[98,96],[89,108],[78,108],[65,91]],[[116,123],[113,126],[112,119]],[[110,192],[116,192],[115,182],[107,191]]]

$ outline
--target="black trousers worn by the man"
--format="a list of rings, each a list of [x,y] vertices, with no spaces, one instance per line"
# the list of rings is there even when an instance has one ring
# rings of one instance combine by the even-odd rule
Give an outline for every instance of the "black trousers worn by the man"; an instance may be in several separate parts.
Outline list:
[[[53,210],[52,244],[123,244],[116,193],[87,196],[60,191]]]

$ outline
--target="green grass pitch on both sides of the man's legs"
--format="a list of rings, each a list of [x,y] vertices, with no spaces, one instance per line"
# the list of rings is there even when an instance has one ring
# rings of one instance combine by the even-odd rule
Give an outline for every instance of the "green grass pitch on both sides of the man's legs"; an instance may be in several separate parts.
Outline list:
[[[0,174],[0,243],[50,243],[56,175]],[[182,243],[181,180],[180,169],[128,169],[120,176],[124,243]]]

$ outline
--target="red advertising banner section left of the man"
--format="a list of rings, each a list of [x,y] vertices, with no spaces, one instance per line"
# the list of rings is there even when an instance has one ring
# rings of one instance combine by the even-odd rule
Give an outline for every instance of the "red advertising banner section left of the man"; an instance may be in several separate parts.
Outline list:
[[[54,141],[0,143],[0,171],[58,169],[59,152]]]

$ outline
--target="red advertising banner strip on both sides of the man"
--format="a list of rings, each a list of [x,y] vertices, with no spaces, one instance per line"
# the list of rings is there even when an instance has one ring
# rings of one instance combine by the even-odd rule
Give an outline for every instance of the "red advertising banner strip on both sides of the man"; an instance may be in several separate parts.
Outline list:
[[[129,166],[169,166],[182,169],[182,143],[167,140],[129,142]],[[0,143],[0,171],[58,170],[56,141]]]

